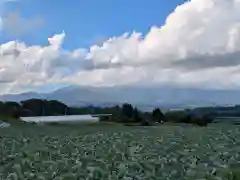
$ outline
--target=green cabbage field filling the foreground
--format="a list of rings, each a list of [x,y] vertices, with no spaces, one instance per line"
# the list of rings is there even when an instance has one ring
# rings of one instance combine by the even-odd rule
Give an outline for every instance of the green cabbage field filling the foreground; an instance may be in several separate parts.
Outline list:
[[[3,180],[237,180],[240,127],[0,129]]]

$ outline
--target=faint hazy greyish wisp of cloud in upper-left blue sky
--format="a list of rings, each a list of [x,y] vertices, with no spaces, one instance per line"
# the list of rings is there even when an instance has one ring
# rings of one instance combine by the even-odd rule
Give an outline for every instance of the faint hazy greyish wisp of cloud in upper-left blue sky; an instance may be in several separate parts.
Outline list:
[[[23,18],[19,13],[8,13],[2,18],[3,30],[11,37],[19,37],[44,25],[42,17]]]

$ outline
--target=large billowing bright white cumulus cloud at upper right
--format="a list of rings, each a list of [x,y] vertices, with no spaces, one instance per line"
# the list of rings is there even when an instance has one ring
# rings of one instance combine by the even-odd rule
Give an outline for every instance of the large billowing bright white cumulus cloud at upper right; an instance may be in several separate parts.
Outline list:
[[[239,10],[236,0],[192,0],[177,7],[164,26],[152,27],[146,37],[133,33],[112,38],[92,47],[91,56],[94,62],[108,65],[171,67],[192,59],[199,67],[218,66],[218,62],[221,66],[224,59],[218,61],[219,56],[235,54],[240,48]]]

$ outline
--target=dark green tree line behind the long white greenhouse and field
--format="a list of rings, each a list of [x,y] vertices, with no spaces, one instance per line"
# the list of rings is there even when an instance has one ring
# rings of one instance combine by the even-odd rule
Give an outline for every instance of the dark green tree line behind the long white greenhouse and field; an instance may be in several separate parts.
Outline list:
[[[19,119],[29,116],[61,116],[61,115],[83,115],[83,114],[112,114],[111,119],[102,121],[113,121],[119,123],[139,123],[151,125],[153,123],[190,123],[206,126],[213,121],[210,115],[195,116],[189,110],[170,111],[162,113],[159,108],[152,112],[142,112],[131,104],[114,107],[68,107],[66,104],[56,100],[29,99],[17,102],[0,102],[0,117]]]

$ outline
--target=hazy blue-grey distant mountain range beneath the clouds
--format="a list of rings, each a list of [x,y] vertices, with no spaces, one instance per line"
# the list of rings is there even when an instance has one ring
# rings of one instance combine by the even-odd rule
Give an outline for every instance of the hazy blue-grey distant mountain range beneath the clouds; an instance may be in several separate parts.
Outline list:
[[[3,95],[0,96],[0,101],[22,101],[30,98],[59,100],[70,106],[113,106],[129,102],[146,110],[156,106],[165,109],[179,109],[196,106],[240,104],[240,91],[166,86],[69,86],[46,94],[30,92],[17,95]]]

